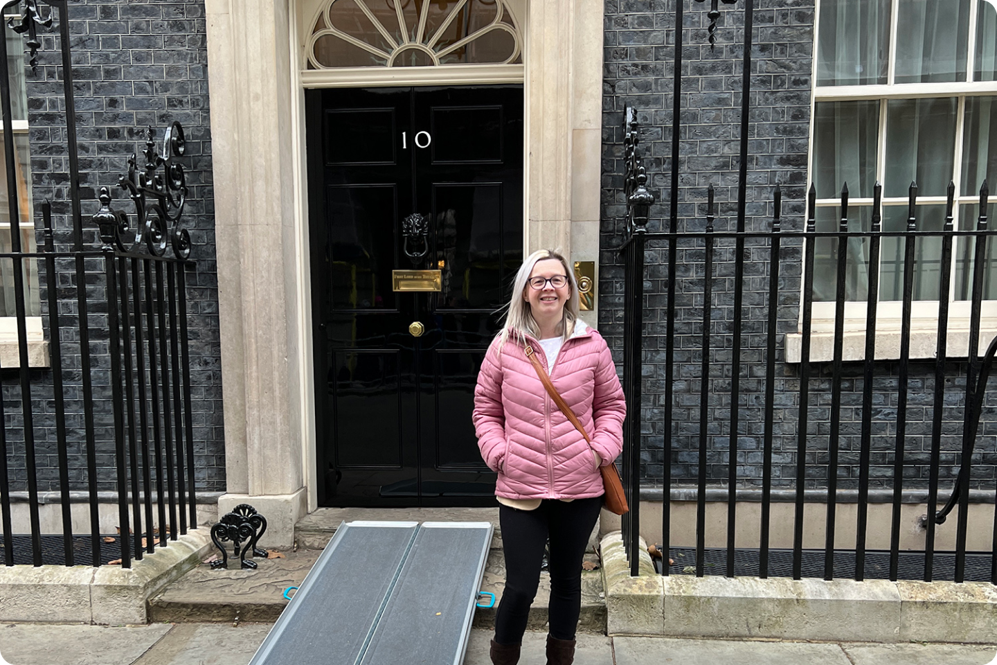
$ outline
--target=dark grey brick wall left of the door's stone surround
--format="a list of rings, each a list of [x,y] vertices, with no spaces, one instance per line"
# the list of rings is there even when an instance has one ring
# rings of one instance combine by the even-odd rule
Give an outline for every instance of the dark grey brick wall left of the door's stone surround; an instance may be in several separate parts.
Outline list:
[[[191,257],[196,267],[187,271],[191,384],[196,479],[199,491],[224,490],[221,376],[218,345],[217,278],[211,189],[211,143],[208,122],[207,56],[202,0],[82,0],[70,3],[73,34],[73,73],[79,124],[84,218],[98,207],[97,188],[113,186],[115,205],[132,213],[134,207],[122,189],[114,186],[127,171],[127,160],[143,142],[148,126],[157,130],[158,145],[168,123],[179,121],[186,134],[186,168],[189,195],[184,225],[193,241]],[[43,12],[48,6],[43,5]],[[58,21],[59,19],[57,19]],[[40,204],[53,203],[57,243],[72,241],[68,217],[68,160],[65,130],[61,56],[58,32],[45,33],[37,74],[28,70],[28,106],[33,199],[36,226],[41,227]],[[38,234],[39,244],[42,237]],[[87,242],[99,247],[96,228]],[[99,267],[99,261],[88,261]],[[70,477],[73,490],[86,489],[83,441],[83,403],[76,324],[76,276],[72,264],[60,265],[60,314],[67,368],[67,422],[70,428]],[[116,490],[111,386],[107,356],[106,305],[97,280],[88,278],[91,352],[94,358],[94,403],[98,439],[99,490]],[[47,284],[42,282],[43,312]],[[47,337],[50,331],[46,331]],[[16,375],[4,377],[5,429],[11,446],[14,490],[23,490],[23,422]],[[40,489],[56,489],[58,479],[52,373],[33,372],[35,437],[38,446]]]

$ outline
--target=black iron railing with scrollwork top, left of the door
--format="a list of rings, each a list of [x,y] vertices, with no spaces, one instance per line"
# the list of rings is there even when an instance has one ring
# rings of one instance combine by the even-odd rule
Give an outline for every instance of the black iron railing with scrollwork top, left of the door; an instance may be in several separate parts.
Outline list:
[[[50,14],[43,18],[40,3],[26,3],[19,23],[8,27],[27,35],[34,68],[39,29],[59,19],[72,244],[57,246],[56,238],[69,229],[54,228],[52,205],[46,201],[40,205],[42,249],[22,245],[21,224],[31,212],[20,209],[10,54],[7,40],[0,39],[11,229],[11,251],[0,253],[0,261],[12,266],[18,351],[16,368],[0,367],[0,376],[17,377],[16,383],[5,382],[0,396],[0,548],[6,565],[37,566],[53,558],[65,565],[83,563],[77,556],[82,534],[74,533],[72,505],[85,492],[90,517],[85,531],[89,546],[82,547],[89,554],[86,562],[97,566],[117,559],[130,567],[134,558],[166,546],[197,523],[186,328],[186,270],[193,263],[190,237],[180,224],[185,175],[175,161],[184,152],[183,130],[177,123],[168,128],[161,155],[150,128],[141,161],[133,156],[129,162],[119,186],[135,206],[133,215],[113,209],[111,192],[102,187],[101,208],[85,222],[67,3],[49,0],[48,5]],[[86,241],[90,229],[99,229],[99,245]],[[51,362],[41,373],[30,367],[32,345],[38,341],[29,339],[27,331],[25,275],[32,263],[41,266],[45,277],[47,312],[41,318]],[[4,413],[5,405],[18,403],[20,414]],[[46,427],[38,423],[42,417]],[[50,440],[53,431],[55,442]],[[83,469],[71,463],[78,456],[85,458]],[[41,458],[52,457],[57,470],[48,464],[40,468]],[[118,533],[102,532],[111,530],[102,529],[100,514],[109,486],[118,505]],[[54,494],[62,517],[57,535],[43,533],[41,527],[41,499],[51,502]],[[27,532],[21,525],[15,532],[12,503],[20,495],[27,499]],[[57,537],[61,551],[53,552]]]

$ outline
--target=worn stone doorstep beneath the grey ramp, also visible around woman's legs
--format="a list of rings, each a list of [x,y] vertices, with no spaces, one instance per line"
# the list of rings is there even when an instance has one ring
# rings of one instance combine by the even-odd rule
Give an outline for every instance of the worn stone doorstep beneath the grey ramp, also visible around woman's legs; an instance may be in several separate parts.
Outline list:
[[[167,586],[149,601],[153,622],[272,622],[287,605],[283,597],[288,586],[300,586],[321,554],[320,549],[297,549],[281,552],[282,558],[256,559],[255,570],[243,570],[229,563],[229,568],[212,570],[202,563],[181,579]],[[486,564],[482,590],[501,599],[504,587],[504,561],[501,549],[493,548]],[[550,578],[540,576],[540,587],[529,611],[527,629],[546,630]],[[495,625],[495,607],[479,608],[474,626]],[[602,575],[598,570],[582,573],[582,606],[579,630],[605,634],[606,608],[602,598]]]

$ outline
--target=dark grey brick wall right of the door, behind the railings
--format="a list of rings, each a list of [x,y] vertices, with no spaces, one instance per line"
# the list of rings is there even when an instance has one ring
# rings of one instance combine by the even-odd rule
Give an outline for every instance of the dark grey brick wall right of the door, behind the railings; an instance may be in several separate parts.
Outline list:
[[[721,5],[718,43],[707,42],[710,3],[685,0],[682,129],[679,189],[679,230],[705,228],[706,187],[713,183],[719,203],[716,228],[733,229],[739,167],[743,5]],[[674,0],[606,0],[605,68],[603,81],[603,179],[600,272],[600,330],[622,359],[623,270],[615,247],[622,240],[622,118],[625,106],[638,109],[642,151],[649,188],[658,203],[651,210],[649,230],[667,230],[670,196]],[[747,228],[769,228],[772,188],[784,192],[784,227],[804,224],[804,188],[811,108],[814,0],[756,0],[755,46],[752,64],[750,163]],[[733,242],[718,242],[717,277],[713,284],[714,335],[709,384],[708,478],[724,485],[730,464],[730,350],[733,318]],[[667,246],[650,245],[646,252],[644,301],[644,371],[642,381],[642,476],[651,485],[663,479],[665,326]],[[674,450],[675,483],[695,482],[698,473],[700,363],[704,253],[686,242],[678,252],[675,355]],[[744,364],[741,380],[740,427],[737,437],[739,484],[761,485],[765,390],[766,300],[768,248],[746,250]],[[800,314],[802,250],[799,241],[784,242],[779,303],[775,441],[773,479],[777,486],[796,484],[799,417],[799,366],[782,362],[785,333],[797,332]],[[941,446],[941,478],[950,487],[959,464],[965,368],[953,363],[946,385],[945,425]],[[814,370],[807,432],[806,487],[827,486],[831,417],[831,363]],[[842,382],[838,487],[858,483],[862,366],[850,364]],[[897,406],[896,363],[876,367],[872,414],[871,483],[890,487],[893,474]],[[925,487],[930,452],[933,363],[910,367],[906,417],[905,487]],[[997,464],[997,396],[991,395],[983,414],[974,486],[993,488]]]

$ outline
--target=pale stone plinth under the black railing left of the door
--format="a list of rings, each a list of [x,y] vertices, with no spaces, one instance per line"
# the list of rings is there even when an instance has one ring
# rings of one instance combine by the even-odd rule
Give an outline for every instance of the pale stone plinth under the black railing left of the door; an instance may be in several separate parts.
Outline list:
[[[200,563],[210,546],[208,529],[196,528],[131,568],[2,566],[0,621],[146,623],[148,598]]]

